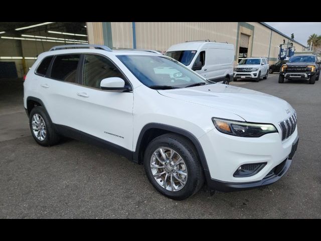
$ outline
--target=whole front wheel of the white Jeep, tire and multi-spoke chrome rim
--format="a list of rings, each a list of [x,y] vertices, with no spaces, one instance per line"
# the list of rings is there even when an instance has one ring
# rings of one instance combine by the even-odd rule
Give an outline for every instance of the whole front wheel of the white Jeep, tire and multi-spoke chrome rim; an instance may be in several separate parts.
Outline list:
[[[153,139],[144,153],[148,180],[163,195],[183,200],[204,183],[204,173],[192,143],[176,134]]]

